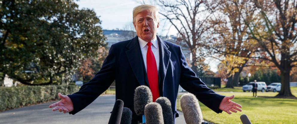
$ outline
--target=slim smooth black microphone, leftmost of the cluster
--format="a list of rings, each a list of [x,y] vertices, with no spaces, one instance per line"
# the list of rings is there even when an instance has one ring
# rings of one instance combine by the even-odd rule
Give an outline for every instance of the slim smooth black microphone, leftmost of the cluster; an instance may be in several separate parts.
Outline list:
[[[116,100],[114,103],[108,124],[120,124],[124,102],[121,99]]]

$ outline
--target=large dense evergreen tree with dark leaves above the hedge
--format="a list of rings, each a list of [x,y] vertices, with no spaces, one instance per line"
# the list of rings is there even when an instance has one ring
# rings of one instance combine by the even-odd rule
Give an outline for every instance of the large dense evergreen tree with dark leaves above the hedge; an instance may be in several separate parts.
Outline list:
[[[73,0],[2,0],[0,17],[0,73],[23,84],[70,79],[106,44],[99,17]]]

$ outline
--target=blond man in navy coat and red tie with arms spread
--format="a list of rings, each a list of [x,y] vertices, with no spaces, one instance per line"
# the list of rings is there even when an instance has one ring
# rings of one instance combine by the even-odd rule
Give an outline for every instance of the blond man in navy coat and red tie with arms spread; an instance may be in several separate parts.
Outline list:
[[[137,36],[112,45],[101,70],[92,80],[72,95],[58,94],[62,100],[49,107],[55,107],[53,111],[75,114],[106,91],[115,80],[116,99],[123,100],[124,106],[133,111],[133,124],[141,121],[133,107],[134,90],[140,85],[150,87],[153,100],[167,97],[172,103],[174,118],[178,117],[176,99],[179,85],[216,113],[241,111],[242,106],[230,100],[234,95],[216,94],[196,77],[188,67],[181,47],[156,35],[160,24],[157,13],[157,8],[151,5],[135,7],[133,24]]]

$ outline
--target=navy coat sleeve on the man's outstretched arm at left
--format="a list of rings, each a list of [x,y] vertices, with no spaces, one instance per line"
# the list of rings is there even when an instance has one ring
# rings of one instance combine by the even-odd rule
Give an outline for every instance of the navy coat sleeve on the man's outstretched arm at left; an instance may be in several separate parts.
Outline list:
[[[78,92],[68,95],[72,100],[74,110],[69,114],[76,114],[90,105],[100,94],[108,89],[115,79],[116,55],[111,46],[109,53],[102,64],[101,70],[86,84],[82,85]]]

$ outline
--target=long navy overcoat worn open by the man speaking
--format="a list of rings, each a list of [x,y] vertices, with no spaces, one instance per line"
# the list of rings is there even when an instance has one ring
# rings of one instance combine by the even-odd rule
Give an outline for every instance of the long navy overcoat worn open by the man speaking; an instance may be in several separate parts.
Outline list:
[[[160,96],[167,97],[172,104],[173,117],[176,113],[178,88],[181,85],[186,91],[196,95],[197,99],[216,113],[221,113],[220,102],[225,96],[216,94],[208,88],[188,67],[181,47],[164,41],[157,36],[160,65],[159,91]],[[74,106],[69,114],[75,114],[93,102],[100,94],[116,81],[116,99],[124,101],[124,107],[133,112],[132,123],[141,121],[134,112],[134,90],[140,85],[149,86],[146,69],[141,54],[138,37],[118,42],[110,47],[108,56],[101,70],[80,90],[68,95]]]

